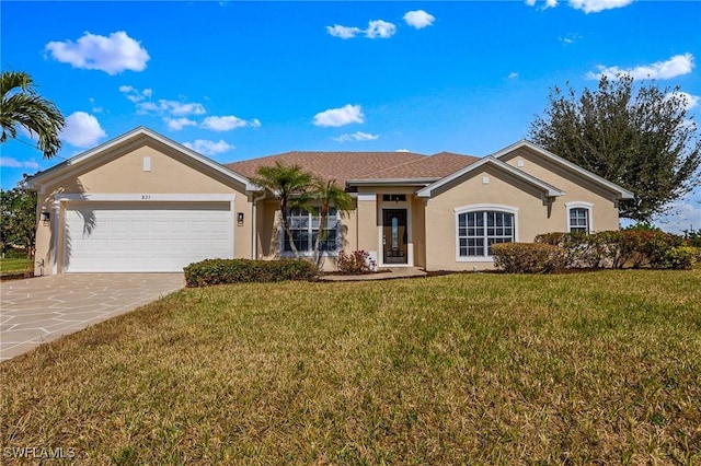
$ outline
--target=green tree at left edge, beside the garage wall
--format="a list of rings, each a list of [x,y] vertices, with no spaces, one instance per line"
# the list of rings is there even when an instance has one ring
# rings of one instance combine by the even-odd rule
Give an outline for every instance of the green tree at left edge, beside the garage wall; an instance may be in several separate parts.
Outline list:
[[[36,238],[36,193],[21,188],[0,190],[0,245],[24,247],[34,257]]]

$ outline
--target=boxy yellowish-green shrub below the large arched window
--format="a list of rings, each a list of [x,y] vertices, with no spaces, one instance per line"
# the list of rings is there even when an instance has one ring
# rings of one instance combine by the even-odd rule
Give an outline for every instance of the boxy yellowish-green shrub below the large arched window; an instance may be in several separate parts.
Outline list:
[[[565,267],[565,249],[542,243],[501,243],[492,246],[494,265],[507,273],[549,273]]]

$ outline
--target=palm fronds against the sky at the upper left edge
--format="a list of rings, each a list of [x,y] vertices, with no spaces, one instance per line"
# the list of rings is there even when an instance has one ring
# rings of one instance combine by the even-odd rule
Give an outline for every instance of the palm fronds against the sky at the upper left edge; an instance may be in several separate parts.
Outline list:
[[[19,125],[37,136],[38,149],[44,152],[44,158],[56,155],[61,148],[58,133],[66,121],[53,102],[36,93],[32,77],[24,71],[3,71],[0,92],[0,143],[15,139]]]

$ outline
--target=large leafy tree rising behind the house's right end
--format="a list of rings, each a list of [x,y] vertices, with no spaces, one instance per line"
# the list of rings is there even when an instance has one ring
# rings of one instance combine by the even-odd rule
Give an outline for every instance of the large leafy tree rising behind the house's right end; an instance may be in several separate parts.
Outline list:
[[[701,184],[701,142],[687,106],[678,88],[643,83],[635,91],[629,75],[602,77],[579,97],[572,88],[551,89],[529,138],[631,190],[635,199],[621,203],[621,217],[648,222]]]

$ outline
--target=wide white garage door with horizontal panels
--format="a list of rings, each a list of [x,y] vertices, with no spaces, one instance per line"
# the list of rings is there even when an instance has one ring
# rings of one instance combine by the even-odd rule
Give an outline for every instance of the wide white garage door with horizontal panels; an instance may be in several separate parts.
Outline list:
[[[233,257],[230,202],[68,202],[64,271],[182,271]]]

